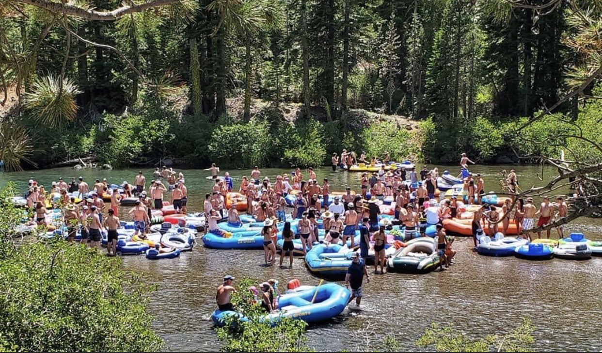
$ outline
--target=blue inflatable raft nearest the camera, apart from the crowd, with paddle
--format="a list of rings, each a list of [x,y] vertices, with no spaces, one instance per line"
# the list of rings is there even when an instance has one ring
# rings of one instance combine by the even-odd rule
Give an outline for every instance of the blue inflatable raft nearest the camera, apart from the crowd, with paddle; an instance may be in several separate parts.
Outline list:
[[[284,294],[278,297],[279,309],[266,314],[263,320],[272,325],[278,323],[283,317],[303,320],[307,323],[329,320],[345,310],[350,296],[349,289],[337,283],[326,283],[313,290]],[[238,316],[242,321],[247,320],[240,313],[222,310],[214,311],[211,319],[216,325],[224,325],[224,319],[228,316]]]

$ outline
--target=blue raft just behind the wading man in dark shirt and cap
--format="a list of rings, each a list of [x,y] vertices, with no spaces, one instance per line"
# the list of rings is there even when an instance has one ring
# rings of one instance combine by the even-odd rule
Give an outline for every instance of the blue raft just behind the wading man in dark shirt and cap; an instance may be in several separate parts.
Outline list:
[[[338,244],[314,246],[305,254],[309,271],[324,276],[344,276],[351,264],[351,249]]]

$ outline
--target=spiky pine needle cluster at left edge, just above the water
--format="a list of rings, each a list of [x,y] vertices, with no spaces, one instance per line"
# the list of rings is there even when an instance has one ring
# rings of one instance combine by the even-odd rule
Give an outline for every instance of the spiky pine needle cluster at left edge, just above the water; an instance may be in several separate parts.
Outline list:
[[[23,127],[13,122],[0,123],[0,160],[6,170],[22,170],[21,161],[36,165],[28,158],[32,150],[31,139]]]

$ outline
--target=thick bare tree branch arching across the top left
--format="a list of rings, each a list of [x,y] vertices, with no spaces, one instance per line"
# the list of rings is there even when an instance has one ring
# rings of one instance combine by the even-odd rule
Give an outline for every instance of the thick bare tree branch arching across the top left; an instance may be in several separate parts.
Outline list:
[[[51,11],[52,13],[64,13],[70,16],[81,17],[88,20],[111,21],[130,13],[137,13],[149,8],[176,4],[180,0],[151,0],[138,5],[124,5],[112,11],[88,10],[69,4],[60,4],[49,0],[14,0],[23,4],[34,5]]]

